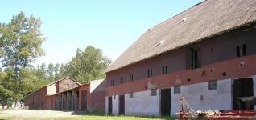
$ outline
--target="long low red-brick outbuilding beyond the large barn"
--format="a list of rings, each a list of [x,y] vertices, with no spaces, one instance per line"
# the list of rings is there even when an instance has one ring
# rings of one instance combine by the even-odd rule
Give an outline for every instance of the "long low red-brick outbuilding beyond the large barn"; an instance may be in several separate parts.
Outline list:
[[[105,110],[105,80],[81,85],[73,78],[61,78],[28,95],[30,110]]]

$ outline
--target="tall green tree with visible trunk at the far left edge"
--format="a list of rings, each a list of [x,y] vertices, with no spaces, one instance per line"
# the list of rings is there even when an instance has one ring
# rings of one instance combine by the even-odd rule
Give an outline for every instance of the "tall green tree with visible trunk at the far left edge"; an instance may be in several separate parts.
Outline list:
[[[14,16],[10,23],[0,23],[0,56],[2,66],[14,70],[15,106],[22,90],[21,69],[43,55],[43,34],[40,31],[42,22],[33,16],[26,17],[21,12]]]

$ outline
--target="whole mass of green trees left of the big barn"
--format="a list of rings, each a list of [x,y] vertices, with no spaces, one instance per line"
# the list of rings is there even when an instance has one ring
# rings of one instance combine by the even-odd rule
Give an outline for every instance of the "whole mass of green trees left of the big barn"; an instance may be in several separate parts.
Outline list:
[[[24,97],[50,82],[72,77],[85,83],[105,78],[103,70],[111,60],[102,50],[87,46],[76,50],[76,56],[65,64],[32,66],[43,55],[40,18],[27,17],[23,12],[13,16],[9,23],[0,22],[0,104],[11,106],[23,102]]]

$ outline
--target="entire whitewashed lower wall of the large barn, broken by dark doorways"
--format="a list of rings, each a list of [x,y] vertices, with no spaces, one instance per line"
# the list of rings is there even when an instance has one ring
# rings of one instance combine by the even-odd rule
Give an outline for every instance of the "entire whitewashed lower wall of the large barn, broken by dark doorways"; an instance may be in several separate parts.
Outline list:
[[[256,96],[256,76],[254,79],[254,96]],[[208,90],[208,82],[180,86],[180,94],[173,93],[171,87],[171,116],[177,116],[180,111],[180,98],[186,98],[193,110],[233,110],[233,90],[232,79],[218,80],[217,90]],[[129,98],[130,94],[125,94],[125,114],[159,116],[160,94],[151,96],[151,90],[134,93],[134,98]],[[113,114],[118,115],[119,102],[118,95],[113,101]],[[108,112],[108,98],[105,102],[106,114]],[[255,107],[256,109],[256,107]]]

